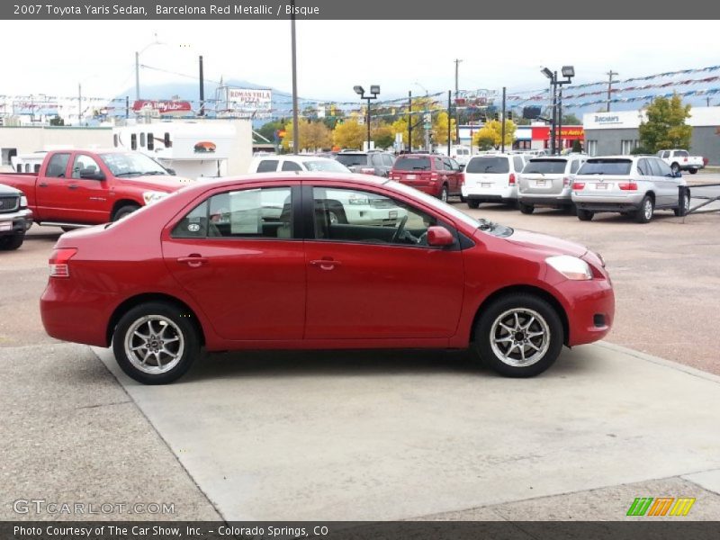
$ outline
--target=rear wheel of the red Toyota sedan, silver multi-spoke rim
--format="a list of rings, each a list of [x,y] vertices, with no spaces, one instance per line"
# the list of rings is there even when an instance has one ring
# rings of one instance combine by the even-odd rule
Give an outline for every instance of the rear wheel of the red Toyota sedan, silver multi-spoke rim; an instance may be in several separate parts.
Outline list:
[[[151,338],[139,337],[136,334],[139,329]],[[132,347],[137,350],[133,351]],[[146,364],[140,358],[143,351]],[[125,313],[115,327],[112,352],[121,370],[139,383],[172,383],[190,369],[200,354],[194,317],[170,303],[140,304]],[[155,356],[150,358],[151,355]],[[168,361],[163,365],[165,360]]]

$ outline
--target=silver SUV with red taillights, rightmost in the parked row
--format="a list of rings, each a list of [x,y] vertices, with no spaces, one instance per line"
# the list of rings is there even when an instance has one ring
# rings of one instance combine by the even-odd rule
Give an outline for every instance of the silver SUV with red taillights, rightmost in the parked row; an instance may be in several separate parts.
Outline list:
[[[680,215],[682,206],[689,207],[689,190],[680,195],[680,185],[687,185],[682,174],[658,157],[590,157],[572,183],[572,202],[582,221],[614,211],[647,223],[657,210]]]

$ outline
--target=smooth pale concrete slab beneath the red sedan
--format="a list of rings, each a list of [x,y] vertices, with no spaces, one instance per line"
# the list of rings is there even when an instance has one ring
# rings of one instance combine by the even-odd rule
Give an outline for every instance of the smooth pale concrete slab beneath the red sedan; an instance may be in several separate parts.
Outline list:
[[[504,379],[467,354],[210,356],[130,381],[222,517],[419,518],[720,468],[720,378],[604,344]]]

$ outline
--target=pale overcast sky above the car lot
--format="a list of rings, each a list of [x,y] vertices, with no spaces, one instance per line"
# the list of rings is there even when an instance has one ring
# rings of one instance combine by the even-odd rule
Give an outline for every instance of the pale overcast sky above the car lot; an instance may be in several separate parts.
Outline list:
[[[140,86],[224,77],[292,90],[289,21],[3,21],[0,94],[134,96]],[[298,21],[298,93],[353,101],[455,88],[547,87],[542,67],[575,67],[574,83],[714,66],[715,21]],[[409,33],[410,31],[410,33]],[[553,33],[551,33],[551,31]],[[159,43],[157,43],[159,42]],[[151,68],[150,68],[151,67]],[[180,75],[177,75],[180,74]],[[185,76],[184,76],[185,75]],[[169,96],[168,96],[169,97]]]

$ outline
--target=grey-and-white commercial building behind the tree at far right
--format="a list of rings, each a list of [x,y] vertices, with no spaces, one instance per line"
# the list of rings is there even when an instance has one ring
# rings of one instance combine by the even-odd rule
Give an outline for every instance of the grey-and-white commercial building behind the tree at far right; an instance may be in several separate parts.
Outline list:
[[[644,111],[590,112],[583,114],[585,150],[590,156],[626,155],[640,145]],[[708,165],[720,165],[720,107],[693,107],[689,152],[707,157]]]

